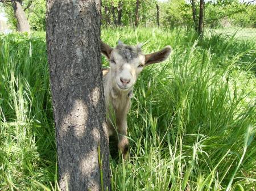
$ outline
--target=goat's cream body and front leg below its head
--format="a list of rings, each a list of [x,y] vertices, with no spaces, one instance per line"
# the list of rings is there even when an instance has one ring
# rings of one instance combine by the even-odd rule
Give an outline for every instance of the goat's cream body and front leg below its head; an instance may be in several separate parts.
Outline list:
[[[118,137],[118,148],[126,152],[128,141],[127,113],[131,106],[130,92],[121,92],[112,83],[111,71],[103,71],[104,96],[106,105],[106,118],[109,135]]]

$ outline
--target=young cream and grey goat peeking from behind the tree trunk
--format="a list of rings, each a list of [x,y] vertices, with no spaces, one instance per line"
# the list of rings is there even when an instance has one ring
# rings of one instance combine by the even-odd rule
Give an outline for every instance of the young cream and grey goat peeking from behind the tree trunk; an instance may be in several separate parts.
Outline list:
[[[126,158],[128,150],[127,113],[133,96],[133,86],[144,66],[166,60],[171,46],[159,52],[143,54],[141,45],[130,46],[118,42],[115,48],[101,42],[101,53],[110,63],[110,69],[103,70],[104,95],[109,136],[118,133],[118,148]]]

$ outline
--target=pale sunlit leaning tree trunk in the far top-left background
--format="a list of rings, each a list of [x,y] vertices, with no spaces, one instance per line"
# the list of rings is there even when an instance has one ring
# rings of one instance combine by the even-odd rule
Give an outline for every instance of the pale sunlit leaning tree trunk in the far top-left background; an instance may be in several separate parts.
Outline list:
[[[26,18],[25,12],[23,11],[21,1],[11,0],[13,5],[14,15],[17,19],[17,29],[19,32],[30,32],[30,24]]]

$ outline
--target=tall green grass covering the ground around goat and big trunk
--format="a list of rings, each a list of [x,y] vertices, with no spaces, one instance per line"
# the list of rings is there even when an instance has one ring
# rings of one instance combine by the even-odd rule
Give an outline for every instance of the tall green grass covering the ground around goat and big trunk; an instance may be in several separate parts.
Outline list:
[[[43,35],[0,37],[0,190],[58,190]],[[113,190],[252,190],[256,45],[193,32],[102,29],[114,46],[171,45],[148,66],[129,113],[130,158],[112,158]],[[104,65],[108,65],[102,58]]]

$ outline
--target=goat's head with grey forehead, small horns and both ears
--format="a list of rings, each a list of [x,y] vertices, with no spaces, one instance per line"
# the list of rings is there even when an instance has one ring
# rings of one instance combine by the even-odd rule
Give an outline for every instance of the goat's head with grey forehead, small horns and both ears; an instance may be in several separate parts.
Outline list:
[[[131,46],[119,41],[118,45],[112,48],[101,42],[101,53],[109,60],[113,84],[120,91],[129,91],[143,67],[166,60],[171,53],[171,46],[166,46],[159,52],[143,54],[141,45]]]

